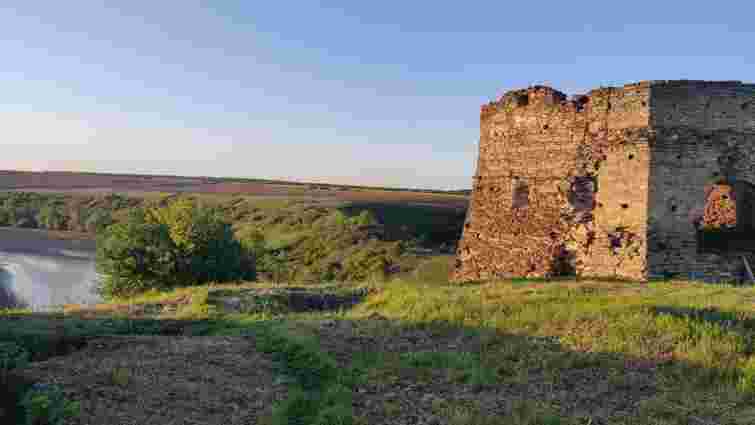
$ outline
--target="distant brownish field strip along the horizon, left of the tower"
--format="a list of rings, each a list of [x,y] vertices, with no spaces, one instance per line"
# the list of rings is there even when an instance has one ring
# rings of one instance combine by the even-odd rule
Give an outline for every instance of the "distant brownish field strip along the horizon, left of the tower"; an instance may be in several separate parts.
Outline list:
[[[72,172],[0,171],[0,191],[90,194],[118,192],[131,196],[151,192],[214,193],[302,200],[417,203],[449,208],[466,208],[468,202],[467,195],[463,191],[422,191],[272,180]]]

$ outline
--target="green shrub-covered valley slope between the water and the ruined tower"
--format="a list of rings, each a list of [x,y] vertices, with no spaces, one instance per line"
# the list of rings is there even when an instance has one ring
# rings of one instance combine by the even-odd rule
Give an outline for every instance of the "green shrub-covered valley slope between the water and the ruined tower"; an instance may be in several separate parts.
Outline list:
[[[177,204],[183,206],[176,207]],[[193,226],[190,221],[211,219],[229,224],[230,227],[221,226],[225,230],[214,226],[221,233],[233,231],[233,239],[244,251],[241,260],[254,258],[254,268],[262,280],[306,283],[381,281],[407,274],[429,254],[453,252],[464,221],[463,211],[427,205],[378,201],[320,205],[207,194],[129,198],[117,194],[0,193],[0,205],[0,226],[100,235],[100,245],[107,246],[108,251],[100,256],[101,270],[106,275],[120,270],[124,275],[121,286],[133,290],[173,286],[177,280],[189,285],[193,281],[250,278],[206,273],[195,277],[199,268],[190,266],[185,268],[191,273],[173,273],[183,264],[181,258],[209,256],[209,251],[199,256],[179,252],[186,251],[188,245],[181,247],[176,239],[180,238],[178,230],[169,228],[180,224],[188,229]],[[175,216],[181,209],[184,217]],[[232,245],[231,235],[226,233],[217,240],[223,238]],[[237,252],[231,245],[224,245],[225,253],[216,259],[226,260],[229,253]],[[228,251],[229,248],[232,249]],[[236,254],[231,257],[229,261],[239,260]],[[238,269],[229,264],[223,268]],[[137,275],[139,279],[135,279]]]

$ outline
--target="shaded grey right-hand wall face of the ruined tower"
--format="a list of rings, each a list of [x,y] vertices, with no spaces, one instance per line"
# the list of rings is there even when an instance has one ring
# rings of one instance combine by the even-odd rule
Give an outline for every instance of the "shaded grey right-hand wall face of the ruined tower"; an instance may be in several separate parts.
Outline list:
[[[741,274],[741,255],[752,261],[749,243],[741,237],[736,243],[724,240],[711,252],[700,243],[699,231],[751,227],[755,86],[659,82],[652,86],[650,105],[650,274]],[[724,196],[734,203],[722,203]]]

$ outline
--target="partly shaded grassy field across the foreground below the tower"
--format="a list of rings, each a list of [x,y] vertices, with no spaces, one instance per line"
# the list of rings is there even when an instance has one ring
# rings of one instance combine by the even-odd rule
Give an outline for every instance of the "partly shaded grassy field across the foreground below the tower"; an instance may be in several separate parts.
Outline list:
[[[242,398],[244,391],[269,395],[268,408],[255,413],[258,423],[755,423],[752,287],[573,280],[248,283],[0,318],[0,339],[20,343],[39,361],[22,372],[62,382],[72,400],[96,394],[114,411],[137,415],[139,395],[158,397],[149,392],[159,387],[144,384],[147,361],[123,349],[96,348],[105,336],[125,346],[143,344],[135,335],[210,341],[215,348],[207,350],[219,358],[226,351],[236,358],[243,346],[260,364],[277,365],[267,381],[233,387]],[[160,347],[151,352],[159,354]],[[163,371],[153,366],[150,373],[193,382],[188,375],[200,373],[202,364],[234,369],[233,362],[212,357],[203,363],[196,359],[211,355],[197,356],[193,363],[163,364]],[[99,367],[74,367],[86,358],[99,359]],[[245,365],[234,373],[247,373]],[[227,418],[241,417],[238,401],[201,394],[191,420],[214,423],[218,408]],[[171,417],[165,408],[164,418]],[[90,422],[71,423],[97,423],[86,417]]]

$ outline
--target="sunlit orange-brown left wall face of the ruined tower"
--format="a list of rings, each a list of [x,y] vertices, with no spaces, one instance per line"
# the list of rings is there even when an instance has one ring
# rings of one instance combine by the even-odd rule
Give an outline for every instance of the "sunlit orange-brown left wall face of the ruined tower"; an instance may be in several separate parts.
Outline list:
[[[548,87],[483,106],[455,280],[646,270],[649,90]]]

